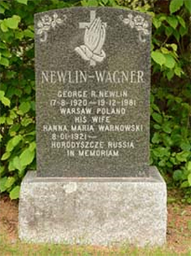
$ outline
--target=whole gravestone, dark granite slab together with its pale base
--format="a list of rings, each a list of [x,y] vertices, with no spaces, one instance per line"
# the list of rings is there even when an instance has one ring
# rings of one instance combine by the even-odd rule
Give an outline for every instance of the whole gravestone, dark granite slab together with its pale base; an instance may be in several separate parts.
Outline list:
[[[166,184],[148,166],[151,24],[115,8],[35,15],[37,172],[22,182],[21,239],[166,241]]]

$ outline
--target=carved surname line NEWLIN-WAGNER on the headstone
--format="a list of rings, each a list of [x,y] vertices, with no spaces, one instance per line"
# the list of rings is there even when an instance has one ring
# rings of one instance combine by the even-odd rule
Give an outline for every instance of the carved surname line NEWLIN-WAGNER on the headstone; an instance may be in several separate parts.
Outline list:
[[[112,84],[124,84],[127,82],[137,84],[145,82],[143,70],[115,70],[113,72],[95,70],[91,73],[81,70],[50,70],[41,72],[42,84],[81,84],[94,80],[98,83]]]

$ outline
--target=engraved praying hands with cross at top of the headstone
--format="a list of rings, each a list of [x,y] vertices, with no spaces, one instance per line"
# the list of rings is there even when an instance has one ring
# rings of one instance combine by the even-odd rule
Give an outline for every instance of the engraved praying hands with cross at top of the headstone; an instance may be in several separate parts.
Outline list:
[[[90,61],[90,66],[95,66],[96,62],[103,61],[106,54],[102,49],[106,38],[106,23],[100,18],[95,18],[95,12],[90,13],[90,23],[85,23],[81,28],[85,28],[84,45],[76,47],[76,52],[82,59]]]

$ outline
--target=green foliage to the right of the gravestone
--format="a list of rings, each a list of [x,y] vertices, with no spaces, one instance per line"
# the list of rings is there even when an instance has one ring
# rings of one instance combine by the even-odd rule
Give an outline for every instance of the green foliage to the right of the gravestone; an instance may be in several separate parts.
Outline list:
[[[190,10],[187,2],[166,3],[170,14],[153,10],[150,163],[157,165],[169,184],[184,190],[187,202],[191,203],[190,25],[186,24]]]

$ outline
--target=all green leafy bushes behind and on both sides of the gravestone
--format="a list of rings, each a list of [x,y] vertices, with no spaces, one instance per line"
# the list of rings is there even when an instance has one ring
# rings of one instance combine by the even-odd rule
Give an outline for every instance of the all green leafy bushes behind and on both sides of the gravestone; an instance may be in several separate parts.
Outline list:
[[[190,161],[190,1],[15,0],[0,2],[1,192],[17,199],[36,169],[33,15],[70,6],[113,6],[153,17],[151,159],[169,184],[188,193]],[[189,202],[189,198],[187,198]]]

